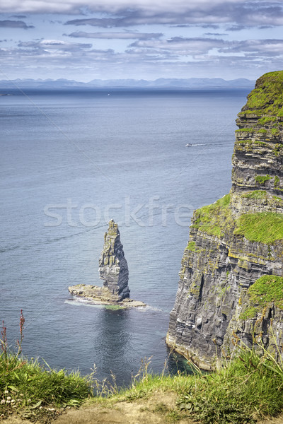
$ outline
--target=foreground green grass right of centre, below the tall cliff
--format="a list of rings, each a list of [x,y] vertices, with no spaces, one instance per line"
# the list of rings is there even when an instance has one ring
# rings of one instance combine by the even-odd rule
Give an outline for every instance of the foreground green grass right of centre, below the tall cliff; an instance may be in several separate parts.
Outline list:
[[[195,367],[194,375],[144,374],[129,389],[119,391],[112,401],[149,399],[160,393],[175,392],[177,406],[168,411],[156,401],[155,412],[165,419],[185,418],[202,424],[252,424],[262,416],[276,416],[283,410],[283,370],[267,351],[260,355],[245,347],[238,347],[232,360],[226,360],[215,372],[202,374]],[[236,353],[237,352],[237,353]],[[142,401],[139,401],[142,405]],[[169,415],[168,415],[169,414]]]

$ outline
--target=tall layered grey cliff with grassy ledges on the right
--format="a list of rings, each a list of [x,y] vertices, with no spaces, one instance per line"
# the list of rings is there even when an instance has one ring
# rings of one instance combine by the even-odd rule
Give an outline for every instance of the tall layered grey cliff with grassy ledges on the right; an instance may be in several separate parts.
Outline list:
[[[204,369],[235,338],[283,343],[283,71],[258,79],[236,122],[231,192],[194,212],[167,334]]]

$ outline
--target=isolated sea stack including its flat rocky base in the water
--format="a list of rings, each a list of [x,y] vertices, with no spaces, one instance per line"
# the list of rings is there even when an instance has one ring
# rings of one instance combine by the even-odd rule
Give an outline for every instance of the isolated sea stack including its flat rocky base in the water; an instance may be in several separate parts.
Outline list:
[[[120,241],[120,231],[114,220],[110,220],[104,235],[98,271],[104,281],[103,287],[78,284],[69,287],[69,292],[100,305],[146,306],[144,302],[129,299],[129,270]]]

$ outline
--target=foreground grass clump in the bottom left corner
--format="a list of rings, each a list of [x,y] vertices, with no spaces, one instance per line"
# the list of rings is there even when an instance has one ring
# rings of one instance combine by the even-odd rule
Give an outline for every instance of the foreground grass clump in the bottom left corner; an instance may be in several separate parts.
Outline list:
[[[28,415],[38,416],[50,413],[50,408],[56,413],[58,408],[79,406],[91,395],[89,377],[52,370],[15,353],[0,355],[0,375],[0,416],[26,410]]]

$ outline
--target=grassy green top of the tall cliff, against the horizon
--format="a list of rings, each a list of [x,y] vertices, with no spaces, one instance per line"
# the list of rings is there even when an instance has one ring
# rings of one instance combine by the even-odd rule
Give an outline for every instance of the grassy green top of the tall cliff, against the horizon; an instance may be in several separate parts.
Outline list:
[[[283,117],[283,71],[268,72],[258,78],[240,115],[248,112]]]

